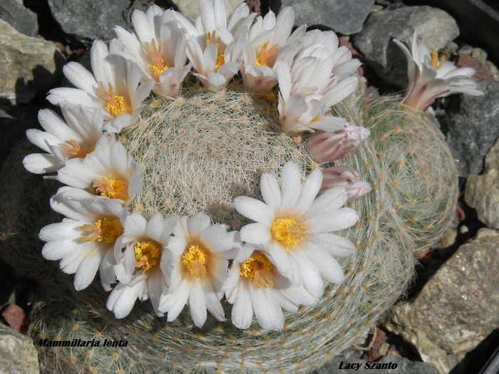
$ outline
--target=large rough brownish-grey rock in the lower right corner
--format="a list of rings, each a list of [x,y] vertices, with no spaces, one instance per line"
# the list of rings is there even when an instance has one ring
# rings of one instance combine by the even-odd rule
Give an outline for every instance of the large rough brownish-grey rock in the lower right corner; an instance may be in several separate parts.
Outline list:
[[[386,328],[416,346],[441,374],[449,373],[499,327],[498,267],[499,232],[480,229],[413,301],[387,313]]]

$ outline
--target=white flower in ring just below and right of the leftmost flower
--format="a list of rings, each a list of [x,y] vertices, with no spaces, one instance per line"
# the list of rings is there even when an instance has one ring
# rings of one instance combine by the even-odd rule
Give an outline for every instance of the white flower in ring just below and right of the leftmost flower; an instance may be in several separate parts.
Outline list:
[[[101,137],[87,157],[67,160],[56,179],[98,196],[120,199],[124,204],[142,188],[140,167],[113,137]]]

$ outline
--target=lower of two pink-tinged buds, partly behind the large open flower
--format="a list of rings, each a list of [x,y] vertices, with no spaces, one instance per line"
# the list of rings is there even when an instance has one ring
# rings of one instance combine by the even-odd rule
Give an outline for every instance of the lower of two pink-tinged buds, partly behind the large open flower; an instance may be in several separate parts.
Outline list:
[[[354,170],[344,165],[322,170],[322,185],[319,194],[332,187],[345,187],[349,202],[373,189],[368,182],[361,180]]]

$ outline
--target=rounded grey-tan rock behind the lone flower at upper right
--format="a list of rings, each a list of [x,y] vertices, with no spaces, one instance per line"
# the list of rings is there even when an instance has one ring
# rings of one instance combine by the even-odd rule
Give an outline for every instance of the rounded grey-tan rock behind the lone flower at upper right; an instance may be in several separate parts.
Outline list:
[[[431,6],[405,6],[371,14],[355,36],[354,46],[381,79],[406,88],[406,57],[392,39],[410,45],[414,29],[430,51],[443,48],[459,36],[456,21],[445,11]]]

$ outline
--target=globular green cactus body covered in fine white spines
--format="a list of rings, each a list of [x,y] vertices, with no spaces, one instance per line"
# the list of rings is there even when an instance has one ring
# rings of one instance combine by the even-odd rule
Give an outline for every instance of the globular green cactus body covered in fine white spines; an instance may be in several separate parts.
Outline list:
[[[264,109],[267,99],[231,89],[206,93],[190,87],[175,98],[150,101],[138,125],[121,134],[121,140],[130,152],[135,152],[138,162],[148,165],[145,170],[150,174],[145,178],[149,177],[148,184],[155,186],[143,191],[133,204],[138,210],[141,206],[147,208],[144,210],[150,214],[204,210],[219,222],[237,228],[241,224],[237,219],[241,217],[232,212],[230,199],[241,192],[257,196],[259,173],[278,175],[285,160],[279,160],[277,146],[284,147],[286,160],[292,157],[303,171],[315,165],[307,156],[303,140],[281,137],[272,153],[258,146],[269,141],[266,132],[278,129],[275,113]],[[250,109],[256,114],[247,115]],[[45,291],[43,297],[51,301],[38,303],[34,308],[31,336],[35,343],[40,339],[100,341],[99,346],[39,347],[43,372],[304,373],[330,360],[368,331],[406,289],[413,274],[414,252],[432,244],[451,222],[456,172],[433,123],[419,114],[406,112],[397,100],[364,100],[356,94],[336,105],[335,110],[371,130],[364,145],[346,155],[341,163],[358,171],[374,187],[369,194],[350,203],[360,218],[355,227],[341,233],[356,244],[356,254],[341,262],[346,273],[342,284],[329,284],[317,306],[285,313],[282,331],[264,331],[256,321],[248,330],[239,330],[210,316],[205,326],[197,328],[188,311],[182,312],[177,321],[167,323],[165,318],[155,316],[148,303],[136,305],[129,316],[117,320],[104,307],[106,294],[95,281],[88,289],[68,292],[73,289],[71,277],[42,277],[38,281]],[[158,125],[154,125],[155,120]],[[239,130],[240,125],[247,130]],[[209,129],[207,135],[197,137],[198,128]],[[253,135],[249,136],[249,130],[254,130]],[[153,140],[162,131],[165,140]],[[171,141],[173,133],[182,131],[185,140],[176,137],[178,144]],[[138,138],[145,140],[136,142]],[[176,150],[182,152],[175,153]],[[234,152],[232,162],[226,162],[227,152]],[[245,157],[245,152],[253,158],[260,152],[261,157],[251,166],[240,160],[238,172],[242,174],[235,174],[234,163]],[[178,157],[189,165],[180,178],[175,170]],[[217,172],[217,167],[222,172]],[[211,175],[207,174],[210,170]],[[188,185],[178,185],[176,190],[161,189],[161,201],[166,201],[167,194],[170,203],[155,200],[158,184],[168,184],[171,177],[188,183],[190,173],[200,177],[192,179],[192,189]],[[220,182],[220,188],[225,191],[221,194],[217,190],[210,196],[209,189],[202,189],[202,178],[213,179],[216,175],[223,175],[225,180]],[[4,194],[2,209],[13,203],[12,199],[6,202]],[[17,204],[23,203],[24,199],[19,197]],[[14,214],[6,220],[8,227],[2,228],[2,232],[32,237],[32,229],[30,234],[16,232],[21,217],[15,211],[10,209]],[[29,214],[29,218],[34,217]],[[31,227],[42,225],[33,222]],[[16,246],[14,257],[13,249],[6,244],[1,256],[14,266],[20,264],[19,256],[41,264],[40,267],[48,264],[39,256],[39,246]],[[230,306],[225,304],[224,308],[225,316],[230,317]],[[127,344],[105,347],[106,339]]]

